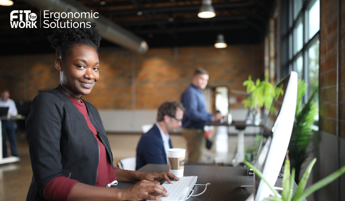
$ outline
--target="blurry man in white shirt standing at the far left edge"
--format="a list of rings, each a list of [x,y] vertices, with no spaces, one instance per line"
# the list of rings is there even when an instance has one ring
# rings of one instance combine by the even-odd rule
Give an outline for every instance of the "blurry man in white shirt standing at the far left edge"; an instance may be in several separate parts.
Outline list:
[[[10,99],[10,92],[8,90],[3,90],[0,96],[0,107],[8,107],[8,115],[7,116],[16,116],[17,115],[17,107],[16,103],[12,99]],[[13,156],[18,155],[17,151],[17,143],[16,143],[16,132],[14,130],[14,122],[13,120],[1,120],[2,124],[2,157],[7,157],[7,144],[6,144],[6,136],[10,141],[11,152]]]

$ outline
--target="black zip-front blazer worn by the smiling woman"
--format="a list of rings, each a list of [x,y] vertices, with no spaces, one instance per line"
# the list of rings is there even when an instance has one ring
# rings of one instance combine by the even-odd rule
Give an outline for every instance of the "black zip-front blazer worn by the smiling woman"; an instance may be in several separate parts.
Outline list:
[[[95,107],[85,102],[92,125],[98,131],[113,166],[109,141]],[[98,142],[84,116],[60,89],[37,95],[26,119],[27,139],[32,166],[32,181],[27,200],[45,200],[46,184],[66,176],[95,185],[99,163]]]

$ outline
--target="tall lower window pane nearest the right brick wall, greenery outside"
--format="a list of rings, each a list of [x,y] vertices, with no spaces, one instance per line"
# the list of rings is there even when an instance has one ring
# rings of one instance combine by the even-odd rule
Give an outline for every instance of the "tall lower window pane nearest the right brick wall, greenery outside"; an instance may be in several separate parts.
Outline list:
[[[311,46],[308,50],[308,97],[313,93],[313,90],[315,87],[318,87],[319,85],[319,51],[320,51],[320,42],[317,40],[317,42]],[[315,95],[315,101],[316,105],[318,106],[319,97],[318,93]],[[317,112],[318,114],[318,112]],[[316,120],[318,120],[318,116],[315,117]]]

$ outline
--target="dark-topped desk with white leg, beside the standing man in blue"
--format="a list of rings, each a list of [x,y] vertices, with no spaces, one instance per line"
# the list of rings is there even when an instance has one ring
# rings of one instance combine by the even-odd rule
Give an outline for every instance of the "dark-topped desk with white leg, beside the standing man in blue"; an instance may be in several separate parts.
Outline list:
[[[208,123],[207,126],[216,126],[216,135],[221,135],[221,133],[228,134],[230,127],[235,127],[237,130],[237,152],[236,156],[234,157],[234,160],[232,162],[232,165],[238,166],[241,163],[244,162],[244,156],[245,156],[245,146],[244,146],[244,135],[245,135],[245,129],[248,127],[257,127],[257,128],[264,128],[265,125],[259,124],[246,124],[244,121],[233,121],[231,124],[228,124],[226,122],[211,122]],[[223,128],[226,128],[225,130]],[[262,134],[262,130],[257,132],[258,134]],[[217,137],[217,136],[216,136]]]

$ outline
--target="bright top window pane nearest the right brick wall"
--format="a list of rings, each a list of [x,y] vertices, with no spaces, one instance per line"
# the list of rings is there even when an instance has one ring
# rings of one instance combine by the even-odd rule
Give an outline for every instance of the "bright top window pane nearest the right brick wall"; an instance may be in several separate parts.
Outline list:
[[[320,29],[320,1],[315,1],[308,12],[308,38],[311,39]]]

